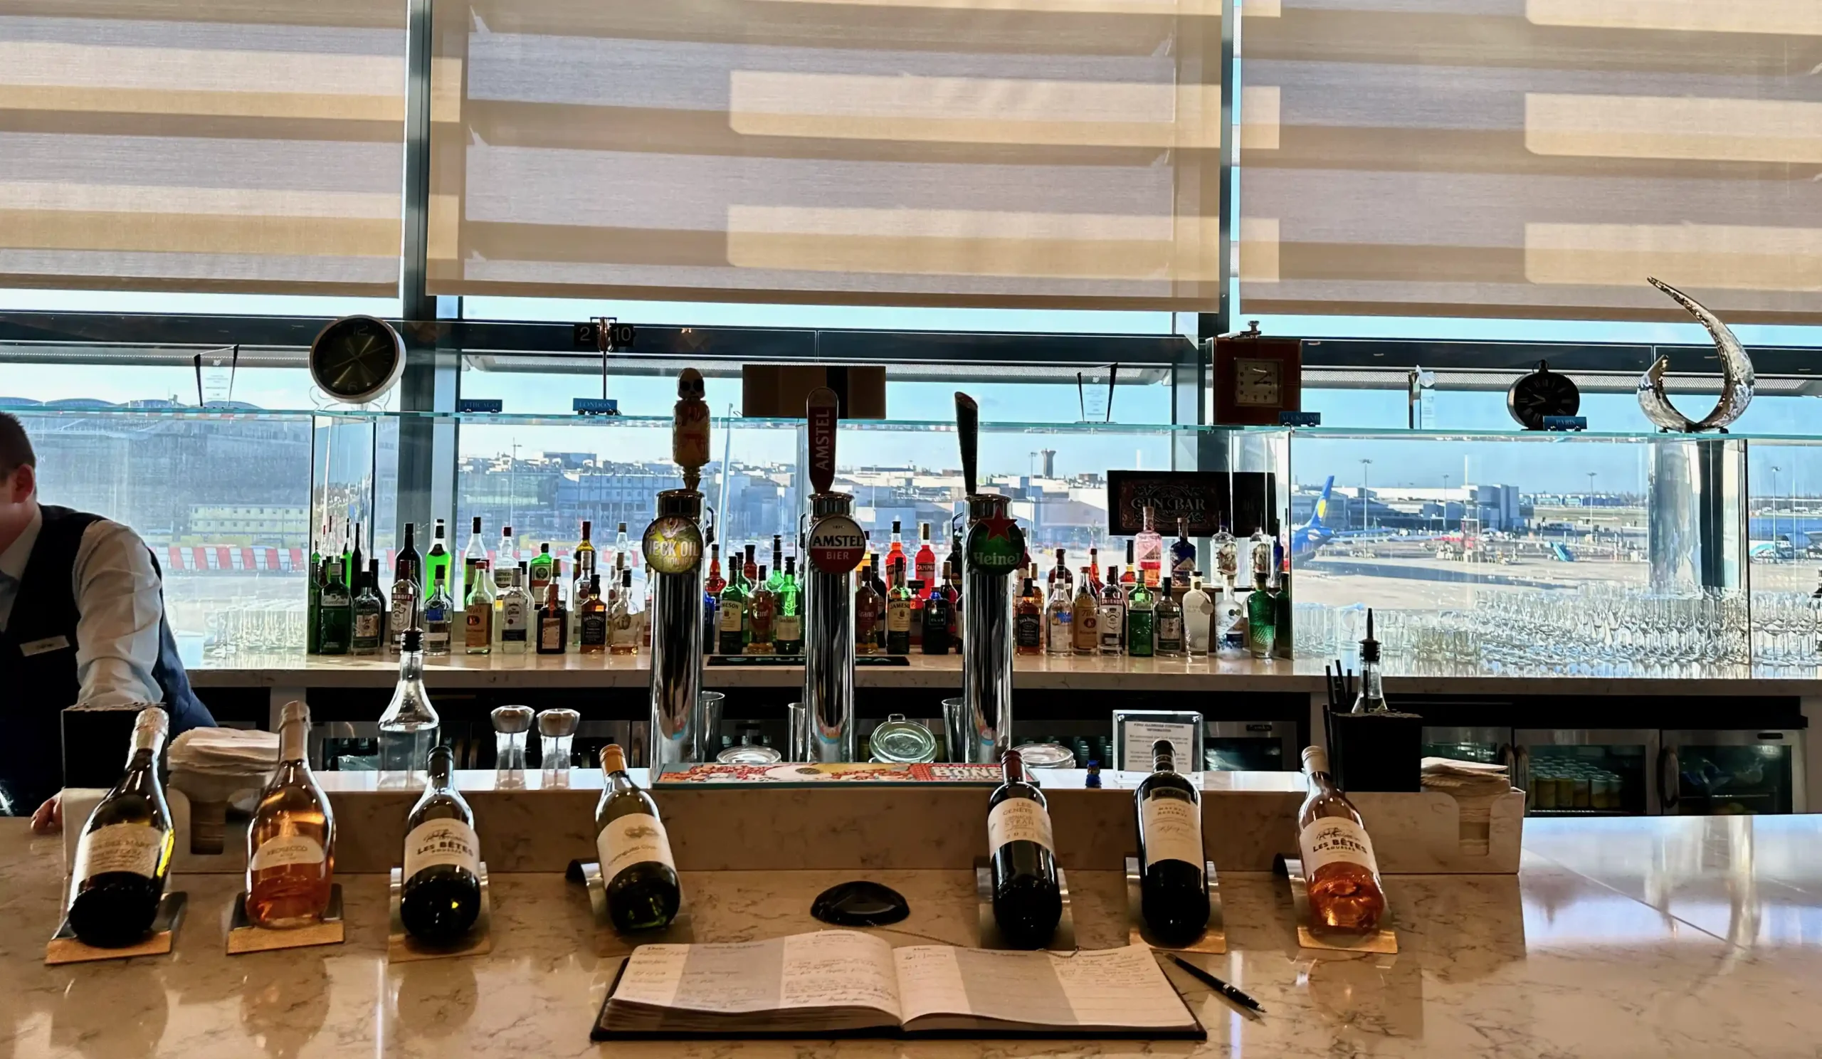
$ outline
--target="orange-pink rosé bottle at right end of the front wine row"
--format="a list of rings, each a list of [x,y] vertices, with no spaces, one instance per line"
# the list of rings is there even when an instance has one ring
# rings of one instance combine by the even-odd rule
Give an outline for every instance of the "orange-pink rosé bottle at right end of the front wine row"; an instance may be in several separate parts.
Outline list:
[[[1379,928],[1385,891],[1361,815],[1328,778],[1328,751],[1305,747],[1310,795],[1297,809],[1297,848],[1310,880],[1310,926],[1366,933]]]

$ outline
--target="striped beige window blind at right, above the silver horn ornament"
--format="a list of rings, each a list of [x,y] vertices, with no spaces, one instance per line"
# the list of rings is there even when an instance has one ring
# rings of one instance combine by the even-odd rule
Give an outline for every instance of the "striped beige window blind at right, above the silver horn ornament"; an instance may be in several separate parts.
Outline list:
[[[1243,11],[1243,312],[1822,321],[1822,2]]]

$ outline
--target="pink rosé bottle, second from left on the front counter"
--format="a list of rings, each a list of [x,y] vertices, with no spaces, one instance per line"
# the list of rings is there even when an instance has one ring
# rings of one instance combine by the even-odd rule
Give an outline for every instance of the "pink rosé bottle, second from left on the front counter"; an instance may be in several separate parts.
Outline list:
[[[335,813],[304,751],[310,707],[279,711],[279,767],[246,829],[246,917],[253,926],[322,922],[335,877]]]

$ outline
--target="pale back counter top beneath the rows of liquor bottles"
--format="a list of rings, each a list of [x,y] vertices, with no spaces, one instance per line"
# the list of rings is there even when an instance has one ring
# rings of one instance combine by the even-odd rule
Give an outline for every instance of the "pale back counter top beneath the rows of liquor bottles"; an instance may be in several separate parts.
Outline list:
[[[962,658],[911,654],[911,663],[862,665],[860,687],[958,689]],[[647,654],[448,654],[425,662],[430,687],[645,687]],[[1323,658],[1124,658],[1100,654],[1037,654],[1013,660],[1020,689],[1055,691],[1323,691]],[[1350,665],[1354,662],[1350,660]],[[211,658],[189,669],[197,687],[390,687],[397,658],[308,656],[302,653]],[[709,665],[707,687],[798,687],[793,665]],[[1472,671],[1392,669],[1385,685],[1403,694],[1822,694],[1822,671],[1684,667],[1649,674],[1496,674]]]

